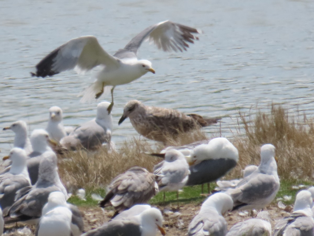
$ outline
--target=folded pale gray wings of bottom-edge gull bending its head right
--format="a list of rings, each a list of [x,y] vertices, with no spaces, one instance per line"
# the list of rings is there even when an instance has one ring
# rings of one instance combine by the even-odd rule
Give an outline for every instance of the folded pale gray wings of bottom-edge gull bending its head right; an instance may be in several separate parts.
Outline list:
[[[217,214],[198,214],[189,225],[188,235],[224,236],[227,233],[227,222]]]

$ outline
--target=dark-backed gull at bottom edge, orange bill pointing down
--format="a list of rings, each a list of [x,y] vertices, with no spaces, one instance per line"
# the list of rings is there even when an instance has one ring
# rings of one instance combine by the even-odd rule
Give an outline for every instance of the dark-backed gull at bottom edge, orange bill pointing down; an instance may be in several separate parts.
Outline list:
[[[130,216],[121,220],[112,220],[99,228],[82,234],[82,236],[155,236],[157,230],[159,230],[162,235],[165,235],[165,230],[162,228],[162,221],[163,218],[160,210],[152,207],[137,216]]]

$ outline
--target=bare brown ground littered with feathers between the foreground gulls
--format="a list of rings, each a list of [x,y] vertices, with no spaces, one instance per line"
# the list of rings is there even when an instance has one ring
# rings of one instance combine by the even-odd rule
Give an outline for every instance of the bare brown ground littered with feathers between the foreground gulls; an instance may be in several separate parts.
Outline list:
[[[201,204],[193,205],[193,204],[185,204],[180,205],[180,208],[177,209],[177,205],[166,205],[166,206],[156,206],[163,212],[164,217],[164,228],[166,231],[166,235],[187,235],[187,229],[189,223],[192,221],[193,217],[198,213]],[[100,207],[80,207],[80,210],[84,214],[84,229],[88,231],[90,229],[94,229],[99,227],[111,218],[114,214],[114,211],[111,209],[103,210]],[[272,228],[276,224],[276,221],[283,218],[284,216],[288,216],[292,212],[292,207],[287,206],[284,210],[279,209],[277,205],[268,206],[266,211],[269,211],[270,216],[272,218]],[[246,219],[252,218],[250,212],[230,212],[225,215],[225,219],[228,222],[228,229],[231,228],[232,225],[237,222],[244,221]],[[256,217],[256,212],[253,214],[253,217]],[[19,228],[18,230],[15,228],[16,225],[12,225],[7,229],[7,232],[4,235],[35,235],[35,226],[29,228]],[[160,236],[160,232],[157,234]]]

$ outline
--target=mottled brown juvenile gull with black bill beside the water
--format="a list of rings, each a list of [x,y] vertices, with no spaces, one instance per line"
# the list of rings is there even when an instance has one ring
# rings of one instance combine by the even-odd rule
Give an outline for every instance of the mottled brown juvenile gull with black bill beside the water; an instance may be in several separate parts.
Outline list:
[[[196,114],[185,115],[178,110],[145,106],[138,100],[129,101],[123,109],[119,125],[130,118],[134,129],[145,138],[166,142],[181,132],[209,126],[221,118],[204,118]]]

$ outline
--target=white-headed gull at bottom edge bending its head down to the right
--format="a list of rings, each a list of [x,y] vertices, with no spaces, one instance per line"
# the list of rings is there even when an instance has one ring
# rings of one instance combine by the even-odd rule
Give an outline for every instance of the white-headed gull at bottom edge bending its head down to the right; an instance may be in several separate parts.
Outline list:
[[[232,209],[232,199],[225,193],[209,196],[202,204],[201,210],[191,221],[188,235],[224,236],[227,233],[227,222],[223,215]]]

